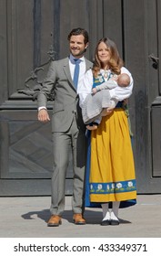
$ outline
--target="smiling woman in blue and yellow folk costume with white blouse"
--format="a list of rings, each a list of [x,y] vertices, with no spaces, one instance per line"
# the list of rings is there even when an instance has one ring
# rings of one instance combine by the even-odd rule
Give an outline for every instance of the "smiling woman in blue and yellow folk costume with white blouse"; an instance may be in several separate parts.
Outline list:
[[[109,90],[117,100],[114,110],[105,109],[101,123],[87,125],[90,130],[86,166],[86,207],[102,207],[101,225],[118,225],[118,209],[136,204],[136,174],[126,112],[126,100],[132,94],[133,78],[123,67],[116,44],[102,38],[96,46],[93,69],[86,72],[79,96],[82,107],[92,88],[113,76],[126,73],[130,83],[125,88]]]

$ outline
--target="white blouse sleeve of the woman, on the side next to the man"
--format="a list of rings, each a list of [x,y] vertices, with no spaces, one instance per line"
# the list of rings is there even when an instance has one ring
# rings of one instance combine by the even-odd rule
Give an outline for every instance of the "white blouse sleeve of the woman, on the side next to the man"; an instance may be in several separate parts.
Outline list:
[[[78,94],[79,94],[79,105],[82,108],[83,103],[86,99],[86,96],[91,93],[93,87],[93,73],[92,69],[86,71],[84,79],[80,81],[78,87]]]

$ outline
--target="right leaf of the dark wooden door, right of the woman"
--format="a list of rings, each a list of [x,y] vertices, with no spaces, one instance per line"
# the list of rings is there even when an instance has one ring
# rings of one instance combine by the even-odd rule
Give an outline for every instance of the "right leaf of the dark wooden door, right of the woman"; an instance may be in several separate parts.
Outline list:
[[[124,1],[125,57],[134,79],[130,112],[137,190],[161,192],[160,49],[161,1]]]

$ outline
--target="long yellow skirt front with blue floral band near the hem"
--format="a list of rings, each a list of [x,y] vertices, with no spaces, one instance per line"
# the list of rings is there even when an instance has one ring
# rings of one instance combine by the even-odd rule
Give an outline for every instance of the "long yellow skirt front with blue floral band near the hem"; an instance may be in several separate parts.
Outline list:
[[[90,202],[136,198],[134,157],[123,109],[103,117],[97,130],[92,131],[90,160]]]

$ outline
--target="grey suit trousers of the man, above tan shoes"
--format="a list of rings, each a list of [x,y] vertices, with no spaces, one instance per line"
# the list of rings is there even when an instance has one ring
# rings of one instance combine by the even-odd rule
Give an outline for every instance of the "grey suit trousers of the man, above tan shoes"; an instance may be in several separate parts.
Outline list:
[[[51,214],[62,216],[65,210],[65,176],[71,148],[74,173],[72,208],[74,213],[83,213],[85,193],[86,136],[85,131],[78,130],[75,117],[71,127],[66,133],[53,133],[53,144],[54,173],[52,176]]]

